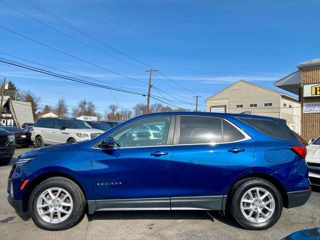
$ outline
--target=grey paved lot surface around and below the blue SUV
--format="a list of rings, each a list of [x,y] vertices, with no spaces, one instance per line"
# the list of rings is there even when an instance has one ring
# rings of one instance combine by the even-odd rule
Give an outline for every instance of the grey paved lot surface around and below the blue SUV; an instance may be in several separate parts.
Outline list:
[[[23,221],[6,200],[12,161],[32,148],[18,148],[8,165],[0,166],[0,239],[279,239],[292,232],[320,226],[320,189],[303,206],[283,209],[271,228],[249,231],[218,211],[105,211],[84,215],[74,227],[59,231]],[[209,214],[208,214],[209,213]],[[211,217],[211,216],[212,217]]]

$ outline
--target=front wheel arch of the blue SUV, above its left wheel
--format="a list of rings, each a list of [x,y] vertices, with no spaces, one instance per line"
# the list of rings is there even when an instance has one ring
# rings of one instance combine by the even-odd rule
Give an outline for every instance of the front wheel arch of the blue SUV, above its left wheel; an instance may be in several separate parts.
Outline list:
[[[42,182],[50,177],[54,177],[54,176],[65,177],[65,178],[68,178],[69,180],[73,181],[75,184],[77,184],[80,187],[81,191],[84,194],[85,200],[87,200],[87,195],[86,195],[86,192],[84,191],[84,188],[81,186],[79,181],[77,181],[74,177],[72,177],[71,175],[66,174],[64,172],[47,172],[47,173],[43,173],[43,174],[37,176],[29,184],[27,184],[27,187],[24,190],[23,196],[22,196],[22,211],[23,212],[28,210],[29,197],[31,195],[32,190],[35,188],[35,186],[38,185],[40,182]]]

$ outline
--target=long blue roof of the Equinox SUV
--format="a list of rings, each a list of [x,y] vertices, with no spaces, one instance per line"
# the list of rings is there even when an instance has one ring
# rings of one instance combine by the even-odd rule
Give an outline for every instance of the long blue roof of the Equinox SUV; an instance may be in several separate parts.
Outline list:
[[[217,116],[217,117],[243,117],[243,118],[256,118],[256,119],[265,119],[265,120],[284,120],[277,117],[270,116],[260,116],[260,115],[251,115],[251,114],[239,114],[239,113],[221,113],[221,112],[202,112],[202,111],[171,111],[171,112],[156,112],[142,115],[143,117],[147,116],[162,116],[162,115],[191,115],[191,116]]]

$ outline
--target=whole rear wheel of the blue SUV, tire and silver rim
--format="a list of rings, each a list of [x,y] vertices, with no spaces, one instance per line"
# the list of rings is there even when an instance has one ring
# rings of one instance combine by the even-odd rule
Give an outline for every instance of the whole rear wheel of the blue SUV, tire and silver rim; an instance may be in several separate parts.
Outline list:
[[[239,181],[233,186],[230,197],[230,213],[246,229],[269,228],[281,216],[281,194],[265,179],[247,178]]]

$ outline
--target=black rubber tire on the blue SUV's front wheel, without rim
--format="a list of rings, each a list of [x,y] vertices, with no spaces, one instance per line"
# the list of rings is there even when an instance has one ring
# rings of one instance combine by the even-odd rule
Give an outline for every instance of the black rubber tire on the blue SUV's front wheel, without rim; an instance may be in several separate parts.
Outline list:
[[[37,212],[36,204],[40,194],[48,188],[60,187],[65,189],[72,198],[73,206],[70,215],[62,222],[49,223],[43,220]],[[38,184],[32,191],[28,209],[34,224],[44,230],[64,230],[73,226],[82,216],[85,207],[85,197],[80,187],[65,177],[51,177]]]

